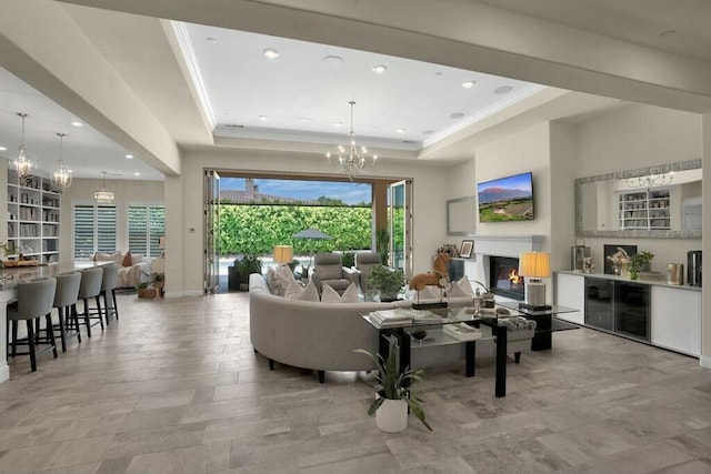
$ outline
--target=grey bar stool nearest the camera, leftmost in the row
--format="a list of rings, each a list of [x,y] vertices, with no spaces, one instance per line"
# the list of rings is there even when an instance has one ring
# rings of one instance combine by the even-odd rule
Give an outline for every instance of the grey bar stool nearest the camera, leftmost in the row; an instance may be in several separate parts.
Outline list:
[[[39,337],[40,319],[44,316],[47,327],[52,327],[52,302],[54,301],[54,290],[57,289],[57,280],[43,279],[34,280],[18,285],[18,304],[8,310],[8,325],[12,326],[12,351],[11,356],[28,355],[30,356],[30,366],[32,372],[37,371],[37,356],[42,355],[50,350],[57,359],[57,345],[54,343],[54,332],[47,331],[46,337]],[[27,339],[18,339],[18,323],[24,320],[27,322]],[[49,344],[49,346],[37,352],[37,344]],[[17,352],[18,345],[28,345],[28,352]]]

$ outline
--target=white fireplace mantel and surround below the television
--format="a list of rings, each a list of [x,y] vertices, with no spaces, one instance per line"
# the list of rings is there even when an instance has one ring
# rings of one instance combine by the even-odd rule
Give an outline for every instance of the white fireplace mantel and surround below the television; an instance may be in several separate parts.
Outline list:
[[[477,235],[474,240],[475,265],[470,280],[489,283],[490,256],[519,258],[521,252],[541,252],[544,235]]]

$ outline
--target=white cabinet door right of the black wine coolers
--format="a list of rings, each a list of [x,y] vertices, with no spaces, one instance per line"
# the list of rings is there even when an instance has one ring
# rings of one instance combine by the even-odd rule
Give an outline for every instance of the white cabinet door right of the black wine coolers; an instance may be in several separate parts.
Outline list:
[[[652,344],[701,354],[701,292],[652,286]]]

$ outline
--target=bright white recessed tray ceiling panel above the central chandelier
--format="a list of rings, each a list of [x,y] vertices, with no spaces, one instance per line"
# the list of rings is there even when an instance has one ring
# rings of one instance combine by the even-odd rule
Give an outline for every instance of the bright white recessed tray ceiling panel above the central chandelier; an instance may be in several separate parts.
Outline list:
[[[352,49],[199,24],[180,28],[221,137],[343,142],[352,100],[359,143],[419,150],[541,89]],[[267,58],[266,49],[279,57]],[[375,65],[387,70],[375,73]],[[467,81],[475,83],[467,89]]]

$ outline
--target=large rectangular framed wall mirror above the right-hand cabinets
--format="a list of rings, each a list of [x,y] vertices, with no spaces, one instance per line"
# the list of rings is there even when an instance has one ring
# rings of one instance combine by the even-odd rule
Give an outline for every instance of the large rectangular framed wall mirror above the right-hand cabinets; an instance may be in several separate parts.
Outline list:
[[[575,180],[578,236],[701,239],[701,160]]]

